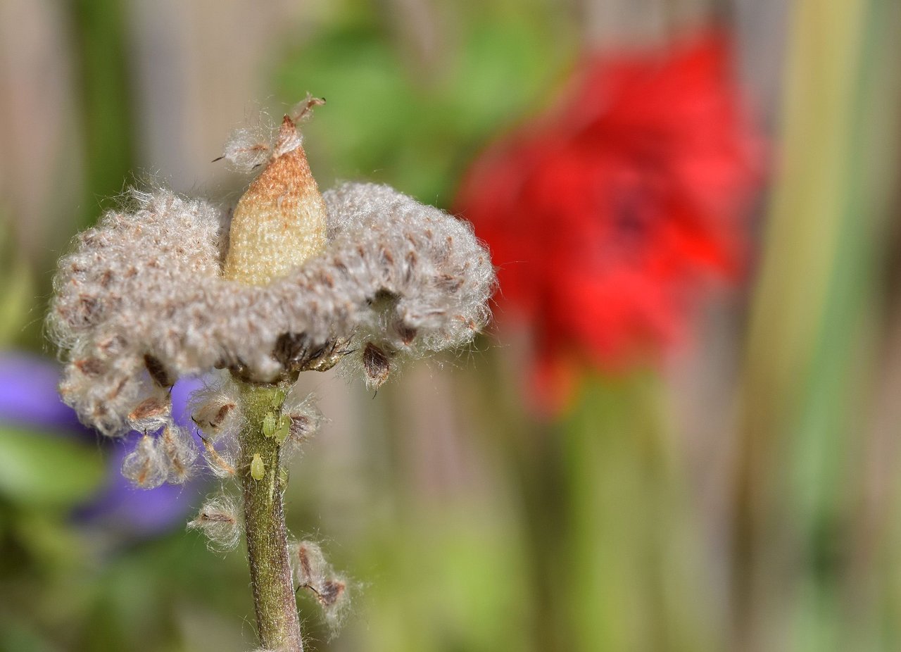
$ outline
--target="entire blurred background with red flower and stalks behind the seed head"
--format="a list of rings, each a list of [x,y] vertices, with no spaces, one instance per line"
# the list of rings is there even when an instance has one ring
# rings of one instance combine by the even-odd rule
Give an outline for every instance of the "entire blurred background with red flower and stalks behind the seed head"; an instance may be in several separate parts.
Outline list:
[[[242,549],[59,403],[55,262],[130,185],[223,203],[307,91],[321,188],[471,219],[495,322],[330,421],[312,650],[901,648],[895,0],[0,2],[0,650],[255,647]],[[311,374],[305,374],[311,375]],[[178,391],[185,393],[185,386]]]

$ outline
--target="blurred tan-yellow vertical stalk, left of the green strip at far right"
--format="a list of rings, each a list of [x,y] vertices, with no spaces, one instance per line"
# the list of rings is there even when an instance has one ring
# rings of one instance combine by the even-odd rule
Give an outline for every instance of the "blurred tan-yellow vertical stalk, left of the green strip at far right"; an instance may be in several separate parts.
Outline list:
[[[868,5],[797,0],[788,33],[778,176],[751,306],[736,452],[736,650],[789,647],[800,535],[787,500],[787,467],[853,192]]]

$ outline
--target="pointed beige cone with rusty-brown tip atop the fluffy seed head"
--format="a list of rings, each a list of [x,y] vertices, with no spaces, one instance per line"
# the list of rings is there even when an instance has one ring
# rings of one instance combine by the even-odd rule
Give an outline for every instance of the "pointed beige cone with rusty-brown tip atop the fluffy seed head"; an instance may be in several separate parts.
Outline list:
[[[232,216],[223,276],[265,285],[325,249],[325,203],[300,135],[287,115],[274,158],[250,184]]]

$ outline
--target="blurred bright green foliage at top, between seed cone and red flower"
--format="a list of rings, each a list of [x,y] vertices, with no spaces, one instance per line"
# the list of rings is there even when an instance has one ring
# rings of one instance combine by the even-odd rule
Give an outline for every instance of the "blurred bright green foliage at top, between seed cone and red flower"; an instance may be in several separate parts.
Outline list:
[[[327,25],[289,51],[276,73],[286,102],[309,90],[328,105],[305,124],[323,187],[336,179],[387,182],[447,206],[460,173],[508,124],[532,113],[572,52],[547,16],[483,8],[461,14],[461,38],[434,69],[405,60],[396,35],[359,16]]]

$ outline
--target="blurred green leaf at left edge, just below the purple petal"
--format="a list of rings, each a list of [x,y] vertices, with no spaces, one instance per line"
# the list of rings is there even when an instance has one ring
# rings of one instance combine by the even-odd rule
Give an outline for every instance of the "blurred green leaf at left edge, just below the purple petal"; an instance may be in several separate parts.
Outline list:
[[[75,505],[96,491],[103,477],[103,455],[94,445],[0,427],[0,494],[16,503]]]

